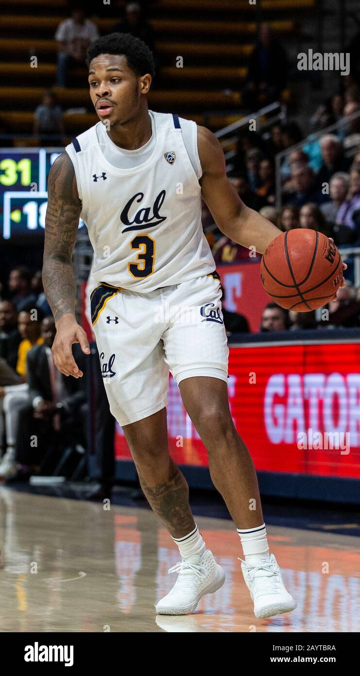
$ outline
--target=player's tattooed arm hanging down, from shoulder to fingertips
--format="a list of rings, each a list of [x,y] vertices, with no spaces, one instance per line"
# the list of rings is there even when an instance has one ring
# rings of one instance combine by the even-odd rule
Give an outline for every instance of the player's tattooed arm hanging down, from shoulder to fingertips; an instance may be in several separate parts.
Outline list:
[[[51,167],[45,218],[43,285],[56,324],[52,352],[57,368],[64,375],[82,376],[72,356],[72,345],[80,343],[90,353],[86,333],[76,322],[76,279],[72,265],[81,201],[76,187],[74,166],[64,152]]]

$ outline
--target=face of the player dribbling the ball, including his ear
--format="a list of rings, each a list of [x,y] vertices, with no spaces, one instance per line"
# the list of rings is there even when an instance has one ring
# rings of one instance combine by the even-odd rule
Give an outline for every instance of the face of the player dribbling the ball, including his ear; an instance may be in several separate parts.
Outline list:
[[[90,64],[88,82],[95,110],[111,129],[136,116],[141,96],[149,91],[151,76],[137,76],[124,56],[100,54]]]

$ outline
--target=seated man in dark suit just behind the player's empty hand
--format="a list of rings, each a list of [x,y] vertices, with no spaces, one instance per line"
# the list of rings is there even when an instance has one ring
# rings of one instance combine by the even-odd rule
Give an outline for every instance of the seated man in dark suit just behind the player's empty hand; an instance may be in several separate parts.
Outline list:
[[[83,379],[67,378],[55,367],[51,345],[55,338],[53,317],[46,317],[41,324],[42,344],[30,349],[27,357],[28,398],[29,402],[18,412],[16,450],[7,470],[0,467],[0,477],[14,477],[20,465],[16,479],[27,478],[34,466],[43,459],[54,436],[66,434],[72,443],[85,443],[86,396]],[[76,346],[78,347],[78,346]],[[80,359],[80,368],[84,370],[85,360],[81,350],[76,354]],[[30,435],[36,434],[36,447],[29,444]]]

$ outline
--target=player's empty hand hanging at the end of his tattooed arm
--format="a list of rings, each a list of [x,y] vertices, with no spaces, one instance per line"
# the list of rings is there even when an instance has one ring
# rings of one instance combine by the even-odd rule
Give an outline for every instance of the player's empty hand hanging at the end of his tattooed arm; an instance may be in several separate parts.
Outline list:
[[[86,333],[76,321],[74,314],[66,313],[56,324],[56,335],[51,347],[55,366],[66,376],[81,378],[83,373],[72,355],[72,345],[80,343],[84,354],[90,354]]]

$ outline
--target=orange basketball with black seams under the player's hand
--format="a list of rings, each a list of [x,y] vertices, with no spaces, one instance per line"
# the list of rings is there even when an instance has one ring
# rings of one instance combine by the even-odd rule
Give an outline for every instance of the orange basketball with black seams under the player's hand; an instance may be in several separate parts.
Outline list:
[[[296,228],[276,237],[265,250],[261,282],[275,303],[309,312],[326,305],[342,283],[342,262],[330,239]]]

